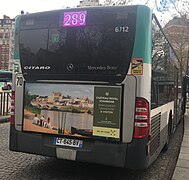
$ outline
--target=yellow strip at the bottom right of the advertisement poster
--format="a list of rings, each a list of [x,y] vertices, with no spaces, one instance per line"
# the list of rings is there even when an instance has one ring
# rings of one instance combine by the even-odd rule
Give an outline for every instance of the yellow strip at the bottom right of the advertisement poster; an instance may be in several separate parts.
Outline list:
[[[116,128],[106,128],[93,126],[93,135],[101,137],[119,138],[120,130]]]

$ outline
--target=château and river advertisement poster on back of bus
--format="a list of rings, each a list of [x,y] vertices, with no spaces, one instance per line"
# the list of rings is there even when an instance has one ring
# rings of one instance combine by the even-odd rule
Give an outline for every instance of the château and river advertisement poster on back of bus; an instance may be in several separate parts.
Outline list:
[[[118,86],[26,83],[23,130],[120,138]]]

